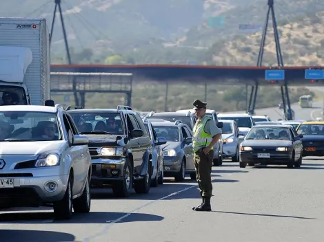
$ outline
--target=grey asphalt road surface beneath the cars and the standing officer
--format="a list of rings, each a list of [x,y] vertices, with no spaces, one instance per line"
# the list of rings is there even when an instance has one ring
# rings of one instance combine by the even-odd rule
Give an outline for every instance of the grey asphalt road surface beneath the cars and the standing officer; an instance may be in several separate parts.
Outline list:
[[[316,103],[321,107],[321,102]],[[292,107],[298,119],[316,109]],[[276,119],[278,108],[263,109]],[[239,168],[224,162],[212,172],[212,212],[195,212],[201,200],[196,181],[165,179],[148,195],[114,199],[92,190],[89,214],[54,221],[51,208],[0,211],[1,242],[323,242],[324,159],[303,159],[301,168]]]

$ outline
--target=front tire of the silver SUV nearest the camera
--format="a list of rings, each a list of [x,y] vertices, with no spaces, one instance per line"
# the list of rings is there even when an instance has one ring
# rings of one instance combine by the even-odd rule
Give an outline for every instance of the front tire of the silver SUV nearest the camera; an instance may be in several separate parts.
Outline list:
[[[71,219],[73,211],[72,186],[72,179],[69,177],[63,199],[55,201],[53,204],[55,219]]]

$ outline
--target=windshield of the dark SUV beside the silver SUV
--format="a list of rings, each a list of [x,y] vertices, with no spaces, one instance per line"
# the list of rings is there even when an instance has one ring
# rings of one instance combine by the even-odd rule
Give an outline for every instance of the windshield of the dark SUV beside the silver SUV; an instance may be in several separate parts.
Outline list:
[[[119,113],[70,112],[82,134],[123,134],[123,122]]]

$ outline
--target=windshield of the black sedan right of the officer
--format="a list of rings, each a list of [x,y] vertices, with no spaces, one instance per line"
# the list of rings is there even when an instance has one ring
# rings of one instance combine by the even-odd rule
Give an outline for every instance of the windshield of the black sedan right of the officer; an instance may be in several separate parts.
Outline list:
[[[292,140],[288,128],[281,127],[252,127],[245,140]]]

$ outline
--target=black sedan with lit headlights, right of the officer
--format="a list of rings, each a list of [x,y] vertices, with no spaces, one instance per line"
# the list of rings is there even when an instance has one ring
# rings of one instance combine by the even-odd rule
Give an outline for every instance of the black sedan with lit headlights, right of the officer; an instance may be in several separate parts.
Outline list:
[[[297,135],[290,125],[256,125],[251,128],[240,146],[240,167],[254,164],[300,167],[303,158],[303,135]]]

